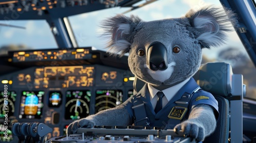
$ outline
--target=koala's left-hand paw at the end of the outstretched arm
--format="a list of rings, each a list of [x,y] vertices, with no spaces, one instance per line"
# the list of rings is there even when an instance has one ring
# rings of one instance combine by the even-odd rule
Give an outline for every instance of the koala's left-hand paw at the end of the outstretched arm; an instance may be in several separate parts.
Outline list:
[[[75,134],[78,128],[92,128],[95,125],[93,121],[82,118],[71,123],[67,129],[67,134]]]

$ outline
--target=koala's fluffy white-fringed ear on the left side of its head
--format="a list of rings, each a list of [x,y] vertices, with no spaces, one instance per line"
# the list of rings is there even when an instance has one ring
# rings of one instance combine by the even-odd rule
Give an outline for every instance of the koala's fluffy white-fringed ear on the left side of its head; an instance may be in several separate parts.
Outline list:
[[[103,37],[110,39],[108,52],[112,54],[120,52],[120,56],[128,52],[134,36],[133,31],[140,21],[141,19],[137,16],[127,17],[122,14],[104,20],[102,22]]]

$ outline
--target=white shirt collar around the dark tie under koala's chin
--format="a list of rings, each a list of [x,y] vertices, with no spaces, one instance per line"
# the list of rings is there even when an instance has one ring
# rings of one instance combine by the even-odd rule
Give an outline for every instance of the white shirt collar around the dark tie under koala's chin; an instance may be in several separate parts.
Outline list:
[[[162,92],[164,93],[165,97],[167,98],[168,101],[170,101],[175,94],[180,90],[180,88],[185,85],[187,82],[189,81],[189,79],[184,80],[183,82],[176,84],[172,87],[166,88],[164,90],[162,90]],[[147,84],[148,87],[148,91],[150,91],[150,99],[152,100],[154,98],[154,96],[157,94],[158,89],[154,88],[152,85]]]

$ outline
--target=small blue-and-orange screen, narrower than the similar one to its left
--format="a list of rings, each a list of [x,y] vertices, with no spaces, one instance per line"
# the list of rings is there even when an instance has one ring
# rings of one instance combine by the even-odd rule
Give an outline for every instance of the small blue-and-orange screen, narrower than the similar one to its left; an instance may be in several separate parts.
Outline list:
[[[62,94],[60,91],[50,91],[49,92],[49,107],[59,107],[62,101]]]

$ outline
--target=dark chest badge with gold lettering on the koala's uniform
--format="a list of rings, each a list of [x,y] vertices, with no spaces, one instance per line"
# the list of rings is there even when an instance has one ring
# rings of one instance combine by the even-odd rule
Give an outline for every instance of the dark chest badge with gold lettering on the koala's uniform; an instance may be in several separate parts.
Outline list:
[[[181,120],[186,114],[186,111],[186,107],[174,106],[173,109],[170,111],[168,117]]]

